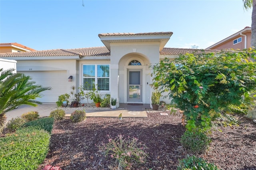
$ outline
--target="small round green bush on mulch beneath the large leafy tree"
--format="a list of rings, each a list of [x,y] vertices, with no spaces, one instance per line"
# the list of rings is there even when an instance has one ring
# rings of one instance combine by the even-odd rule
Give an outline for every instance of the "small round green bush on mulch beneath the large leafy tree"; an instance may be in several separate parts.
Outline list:
[[[208,136],[199,131],[186,131],[182,136],[180,143],[182,144],[183,148],[186,149],[189,153],[197,154],[203,153],[210,143],[210,138]]]

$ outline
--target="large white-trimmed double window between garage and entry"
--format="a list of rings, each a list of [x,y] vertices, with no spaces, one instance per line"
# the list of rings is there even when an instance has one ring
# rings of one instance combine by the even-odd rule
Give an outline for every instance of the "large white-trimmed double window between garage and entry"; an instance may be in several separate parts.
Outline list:
[[[109,64],[83,65],[83,86],[92,90],[109,91]]]

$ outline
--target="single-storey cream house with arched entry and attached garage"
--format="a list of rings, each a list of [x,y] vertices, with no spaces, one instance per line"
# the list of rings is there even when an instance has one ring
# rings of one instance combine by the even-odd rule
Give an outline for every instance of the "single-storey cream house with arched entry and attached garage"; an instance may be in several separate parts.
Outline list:
[[[18,73],[30,75],[44,87],[52,87],[38,101],[55,103],[59,95],[70,93],[72,85],[78,88],[87,82],[89,87],[96,84],[101,94],[109,93],[116,98],[118,107],[119,103],[151,103],[150,64],[196,51],[165,48],[172,32],[98,36],[105,46],[5,53],[0,58],[17,60]],[[68,81],[70,76],[72,81]]]

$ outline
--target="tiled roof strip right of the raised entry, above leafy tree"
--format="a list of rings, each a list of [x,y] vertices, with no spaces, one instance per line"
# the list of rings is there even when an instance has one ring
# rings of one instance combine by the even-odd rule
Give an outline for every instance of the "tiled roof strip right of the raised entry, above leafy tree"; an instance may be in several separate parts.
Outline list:
[[[205,50],[205,49],[192,49],[192,48],[163,48],[160,51],[160,55],[179,55],[185,53],[202,53],[202,50],[206,53],[218,52],[220,50]]]

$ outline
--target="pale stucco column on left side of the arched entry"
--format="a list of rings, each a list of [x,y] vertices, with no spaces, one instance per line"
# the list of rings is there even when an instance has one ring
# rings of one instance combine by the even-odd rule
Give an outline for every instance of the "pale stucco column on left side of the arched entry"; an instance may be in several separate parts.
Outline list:
[[[118,64],[110,65],[110,97],[116,99],[116,107],[119,107]]]

